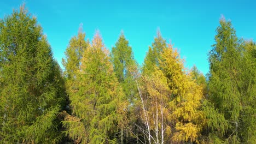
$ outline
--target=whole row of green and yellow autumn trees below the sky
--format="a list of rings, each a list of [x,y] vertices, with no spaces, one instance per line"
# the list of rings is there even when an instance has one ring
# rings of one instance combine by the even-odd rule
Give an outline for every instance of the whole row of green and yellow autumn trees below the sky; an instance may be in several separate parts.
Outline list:
[[[256,44],[221,17],[210,71],[157,31],[144,63],[83,27],[62,59],[25,6],[0,19],[0,143],[256,143]]]

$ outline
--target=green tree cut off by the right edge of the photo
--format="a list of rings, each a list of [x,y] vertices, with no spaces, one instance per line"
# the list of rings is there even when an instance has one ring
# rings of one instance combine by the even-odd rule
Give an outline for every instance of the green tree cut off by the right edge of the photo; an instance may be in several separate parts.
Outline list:
[[[245,41],[242,45],[242,72],[241,72],[241,105],[240,112],[240,134],[241,142],[256,142],[256,44],[253,41]]]

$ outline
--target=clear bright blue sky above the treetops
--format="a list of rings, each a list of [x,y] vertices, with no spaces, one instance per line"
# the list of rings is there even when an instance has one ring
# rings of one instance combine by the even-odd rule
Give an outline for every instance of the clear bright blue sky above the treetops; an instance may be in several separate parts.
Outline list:
[[[18,9],[22,0],[0,0],[0,17]],[[159,27],[162,36],[179,49],[186,67],[194,64],[208,72],[207,53],[214,43],[215,30],[223,14],[231,20],[237,36],[256,38],[256,1],[78,1],[26,0],[26,7],[36,16],[61,64],[71,37],[83,23],[86,39],[99,29],[108,49],[115,45],[121,29],[142,64]]]

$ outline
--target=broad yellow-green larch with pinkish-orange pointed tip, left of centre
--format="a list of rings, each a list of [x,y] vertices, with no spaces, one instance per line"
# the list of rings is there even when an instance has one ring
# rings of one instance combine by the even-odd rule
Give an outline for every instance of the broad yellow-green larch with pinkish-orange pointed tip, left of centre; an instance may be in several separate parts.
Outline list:
[[[117,125],[125,111],[124,93],[97,32],[84,51],[77,75],[78,91],[70,95],[72,115],[66,113],[66,134],[76,143],[117,143]]]

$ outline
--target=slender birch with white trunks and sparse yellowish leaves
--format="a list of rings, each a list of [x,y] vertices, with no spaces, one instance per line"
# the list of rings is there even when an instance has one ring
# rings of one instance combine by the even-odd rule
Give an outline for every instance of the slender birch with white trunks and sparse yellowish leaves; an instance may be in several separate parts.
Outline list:
[[[171,129],[168,125],[170,89],[167,79],[159,67],[155,67],[154,72],[150,76],[142,76],[139,83],[139,97],[142,103],[140,115],[144,128],[143,125],[137,127],[147,139],[144,143],[164,143]]]

